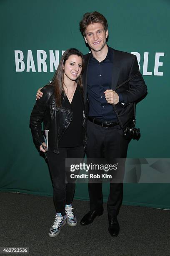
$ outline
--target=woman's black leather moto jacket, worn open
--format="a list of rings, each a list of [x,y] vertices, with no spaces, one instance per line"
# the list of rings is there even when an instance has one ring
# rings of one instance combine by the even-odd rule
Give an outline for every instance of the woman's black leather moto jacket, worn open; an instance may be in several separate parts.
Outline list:
[[[68,108],[58,108],[56,106],[53,85],[48,84],[43,87],[41,91],[43,92],[43,97],[36,101],[30,116],[30,128],[32,131],[32,136],[35,146],[39,148],[41,143],[44,142],[41,128],[41,123],[43,121],[44,130],[50,130],[50,132],[52,132],[52,138],[54,138],[52,145],[50,145],[50,149],[54,153],[59,154],[60,138],[64,134],[67,127],[70,125],[73,119],[73,113]],[[79,89],[79,92],[84,105],[82,126],[84,128],[83,144],[85,149],[87,143],[87,118],[85,114],[85,104],[81,89]]]

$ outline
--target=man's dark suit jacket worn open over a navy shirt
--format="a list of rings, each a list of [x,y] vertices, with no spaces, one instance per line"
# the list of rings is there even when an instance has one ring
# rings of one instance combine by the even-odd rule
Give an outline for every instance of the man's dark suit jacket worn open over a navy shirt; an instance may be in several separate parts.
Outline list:
[[[128,83],[124,84],[122,87],[116,90],[120,92],[123,97],[123,102],[117,103],[116,109],[120,116],[123,125],[131,122],[134,115],[134,104],[133,102],[138,102],[145,97],[147,94],[147,87],[145,81],[143,80],[142,74],[139,71],[138,61],[135,55],[129,54],[124,51],[117,51],[110,48],[113,54],[113,69],[112,69],[112,83],[111,89],[115,88],[135,76]],[[87,102],[88,108],[88,97],[87,97],[87,73],[88,64],[92,53],[84,55],[84,71],[83,71],[83,94],[84,100]],[[124,104],[122,104],[124,103]],[[113,110],[114,111],[114,110]]]

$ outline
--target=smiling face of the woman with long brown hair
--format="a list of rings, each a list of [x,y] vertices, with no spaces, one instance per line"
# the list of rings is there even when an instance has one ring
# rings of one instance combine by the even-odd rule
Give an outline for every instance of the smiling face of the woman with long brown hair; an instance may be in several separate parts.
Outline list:
[[[77,55],[70,55],[63,66],[64,79],[75,81],[82,72],[82,58]]]

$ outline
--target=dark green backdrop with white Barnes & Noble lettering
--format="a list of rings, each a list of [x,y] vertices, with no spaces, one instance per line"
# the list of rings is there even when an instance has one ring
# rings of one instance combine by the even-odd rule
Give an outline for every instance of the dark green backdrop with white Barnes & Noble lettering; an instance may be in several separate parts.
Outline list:
[[[88,52],[79,32],[79,21],[83,13],[94,10],[107,18],[108,45],[137,54],[148,85],[148,96],[137,105],[137,126],[142,136],[140,141],[130,143],[128,157],[169,158],[168,0],[1,0],[0,191],[52,195],[47,165],[32,142],[30,113],[37,88],[53,76],[50,71],[55,51],[59,58],[62,51],[71,47]],[[21,64],[17,56],[22,59],[22,54]],[[124,187],[124,204],[170,209],[170,184]],[[104,184],[105,201],[108,189],[108,184]],[[87,184],[77,184],[75,198],[88,200]]]

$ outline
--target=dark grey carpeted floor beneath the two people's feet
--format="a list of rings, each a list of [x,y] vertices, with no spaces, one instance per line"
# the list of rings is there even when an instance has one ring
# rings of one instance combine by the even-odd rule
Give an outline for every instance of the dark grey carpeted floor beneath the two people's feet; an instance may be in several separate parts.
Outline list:
[[[123,205],[118,216],[120,235],[112,238],[106,204],[104,214],[92,224],[79,224],[88,204],[75,200],[77,226],[65,225],[50,238],[55,217],[52,197],[0,192],[0,247],[29,247],[29,255],[35,256],[170,255],[170,211]]]

